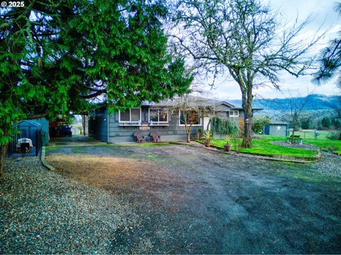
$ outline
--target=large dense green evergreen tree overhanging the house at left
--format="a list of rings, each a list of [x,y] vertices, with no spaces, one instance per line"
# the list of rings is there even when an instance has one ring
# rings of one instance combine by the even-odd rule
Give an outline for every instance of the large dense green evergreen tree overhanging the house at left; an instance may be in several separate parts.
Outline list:
[[[167,51],[161,1],[25,1],[0,10],[0,175],[21,118],[183,94],[192,77]]]

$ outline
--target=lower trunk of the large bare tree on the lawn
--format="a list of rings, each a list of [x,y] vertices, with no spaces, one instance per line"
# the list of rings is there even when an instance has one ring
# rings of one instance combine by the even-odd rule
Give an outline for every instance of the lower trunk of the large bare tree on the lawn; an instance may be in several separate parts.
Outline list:
[[[244,137],[242,144],[240,147],[249,148],[253,147],[252,145],[252,91],[243,92],[242,91],[242,99],[243,99],[243,109],[244,109]]]

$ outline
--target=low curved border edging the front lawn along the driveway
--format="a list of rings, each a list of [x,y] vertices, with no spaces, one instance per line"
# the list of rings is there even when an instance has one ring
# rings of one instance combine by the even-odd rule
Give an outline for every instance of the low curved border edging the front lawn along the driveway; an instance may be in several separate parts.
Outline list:
[[[177,145],[185,145],[183,142],[174,142],[174,143]],[[210,149],[211,151],[234,155],[238,157],[266,159],[266,160],[272,160],[272,161],[277,161],[277,162],[293,162],[293,163],[308,164],[308,163],[320,161],[322,159],[322,154],[320,152],[320,149],[318,149],[318,154],[314,157],[294,157],[294,156],[264,155],[264,154],[254,154],[254,153],[251,154],[251,153],[244,153],[244,152],[224,152],[222,148],[214,146],[214,145],[211,145],[211,147],[208,147],[208,148],[203,147],[203,146],[193,145],[193,144],[188,144],[188,146],[199,147],[203,149]]]

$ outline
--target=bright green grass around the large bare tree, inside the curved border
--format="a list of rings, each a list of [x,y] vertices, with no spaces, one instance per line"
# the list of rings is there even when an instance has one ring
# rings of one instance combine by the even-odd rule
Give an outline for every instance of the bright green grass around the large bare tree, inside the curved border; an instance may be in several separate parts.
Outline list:
[[[290,147],[283,147],[280,145],[273,145],[271,142],[275,141],[283,141],[285,137],[275,137],[275,136],[264,136],[266,139],[264,140],[253,140],[254,147],[251,148],[238,148],[232,142],[232,150],[239,149],[239,152],[249,153],[249,154],[262,154],[264,156],[294,156],[294,157],[313,157],[318,152],[310,149],[297,149],[297,148],[290,148]],[[242,139],[238,139],[238,143]],[[226,141],[223,139],[215,139],[212,140],[211,145],[215,147],[224,148]]]

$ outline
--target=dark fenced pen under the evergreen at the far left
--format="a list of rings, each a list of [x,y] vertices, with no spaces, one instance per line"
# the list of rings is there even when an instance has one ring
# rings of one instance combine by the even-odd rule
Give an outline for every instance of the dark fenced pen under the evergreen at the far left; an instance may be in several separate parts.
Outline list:
[[[41,130],[31,126],[16,126],[18,134],[12,137],[7,149],[8,157],[18,156],[38,156],[41,147],[43,146],[43,135]],[[21,144],[28,145],[27,149],[23,151]]]

